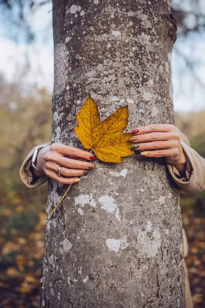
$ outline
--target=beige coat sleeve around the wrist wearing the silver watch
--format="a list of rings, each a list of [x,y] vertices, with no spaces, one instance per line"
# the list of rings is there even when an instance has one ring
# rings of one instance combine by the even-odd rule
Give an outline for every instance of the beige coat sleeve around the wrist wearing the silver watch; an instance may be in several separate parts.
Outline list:
[[[49,146],[51,145],[51,142],[43,143],[42,146],[44,145]],[[45,175],[43,175],[40,178],[35,178],[34,175],[32,174],[30,167],[31,167],[31,159],[33,156],[33,152],[34,148],[32,148],[32,150],[30,150],[30,152],[28,153],[19,171],[20,179],[27,187],[36,187],[38,185],[45,183],[48,180],[48,177]]]

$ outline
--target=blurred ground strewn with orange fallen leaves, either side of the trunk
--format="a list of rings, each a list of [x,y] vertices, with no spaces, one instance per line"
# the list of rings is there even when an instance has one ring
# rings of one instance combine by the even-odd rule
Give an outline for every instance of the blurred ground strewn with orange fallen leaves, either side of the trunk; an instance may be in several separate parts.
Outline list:
[[[8,213],[9,214],[9,213]],[[194,308],[205,307],[205,217],[191,210],[182,213],[183,227],[189,242],[186,263],[189,271]],[[39,287],[44,254],[45,213],[40,211],[32,232],[27,237],[15,228],[2,231],[0,259],[0,308],[39,307]],[[6,256],[6,257],[4,257]]]

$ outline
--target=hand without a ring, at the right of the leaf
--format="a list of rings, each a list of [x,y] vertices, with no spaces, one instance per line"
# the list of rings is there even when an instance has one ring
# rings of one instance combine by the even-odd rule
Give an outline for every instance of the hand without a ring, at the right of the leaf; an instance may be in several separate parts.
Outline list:
[[[186,156],[180,144],[179,133],[174,125],[151,124],[132,131],[132,149],[143,150],[140,154],[147,157],[165,157],[173,165],[184,165]],[[152,151],[150,151],[152,150]]]

